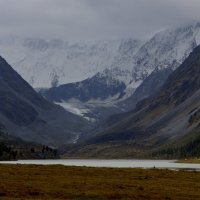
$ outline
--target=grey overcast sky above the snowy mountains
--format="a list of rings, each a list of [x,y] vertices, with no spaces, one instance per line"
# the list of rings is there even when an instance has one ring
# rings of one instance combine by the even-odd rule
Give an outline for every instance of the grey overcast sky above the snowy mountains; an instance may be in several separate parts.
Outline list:
[[[0,35],[142,38],[192,20],[200,0],[0,0]]]

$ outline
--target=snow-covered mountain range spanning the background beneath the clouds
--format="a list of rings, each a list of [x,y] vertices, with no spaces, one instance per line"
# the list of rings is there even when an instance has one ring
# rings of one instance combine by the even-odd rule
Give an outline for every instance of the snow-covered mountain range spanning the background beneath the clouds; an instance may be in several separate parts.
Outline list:
[[[59,93],[59,99],[58,97],[56,99],[58,103],[66,103],[71,99],[86,103],[82,94],[91,91],[92,88],[93,92],[87,94],[87,101],[98,100],[99,103],[99,100],[105,101],[107,98],[109,104],[113,101],[116,106],[117,102],[134,95],[134,91],[152,73],[154,73],[153,77],[157,77],[159,70],[176,69],[199,44],[200,23],[193,23],[159,32],[146,42],[122,39],[72,44],[61,40],[7,37],[0,39],[0,53],[33,87],[53,86],[54,89],[50,89],[50,93],[51,91],[59,93],[56,90],[60,90],[60,87],[63,88],[62,85],[65,85],[67,91],[62,90],[62,94]],[[158,75],[155,75],[155,71]],[[169,73],[166,73],[166,76],[168,75]],[[165,79],[166,77],[163,77],[162,81],[157,78],[159,81],[156,84],[162,85]],[[105,80],[105,83],[102,80]],[[94,82],[102,85],[97,84],[98,88],[95,88]],[[113,87],[113,82],[120,86],[125,84],[125,87],[115,86],[112,90],[110,88]],[[151,80],[151,82],[155,81]],[[77,89],[77,85],[84,85],[84,87]],[[145,85],[148,84],[145,82]],[[142,95],[148,97],[151,94],[148,91],[151,87],[146,88],[145,85],[141,86],[142,91],[146,91],[142,92]],[[101,86],[104,90],[112,92],[95,93]],[[73,89],[75,91],[69,94]],[[54,94],[44,96],[52,95],[55,100]],[[137,96],[130,99],[141,98]],[[121,105],[123,103],[119,106]],[[125,105],[125,107],[129,106]]]

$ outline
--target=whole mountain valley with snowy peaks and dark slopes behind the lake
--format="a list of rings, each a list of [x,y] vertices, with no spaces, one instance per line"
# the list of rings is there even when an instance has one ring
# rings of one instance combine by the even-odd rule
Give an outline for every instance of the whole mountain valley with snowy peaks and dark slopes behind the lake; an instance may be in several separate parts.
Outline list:
[[[0,38],[2,55],[20,73],[1,58],[1,131],[67,157],[199,156],[199,30],[192,23],[143,42],[87,45]],[[10,53],[15,45],[20,55]],[[85,76],[69,80],[77,74],[69,65]]]

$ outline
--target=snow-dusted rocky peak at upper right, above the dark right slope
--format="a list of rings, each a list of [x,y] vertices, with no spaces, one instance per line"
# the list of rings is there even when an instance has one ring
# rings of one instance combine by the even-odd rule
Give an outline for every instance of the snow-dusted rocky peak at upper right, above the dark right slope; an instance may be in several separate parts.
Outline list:
[[[177,68],[200,43],[200,23],[157,33],[134,56],[133,73],[138,79],[155,68]]]

